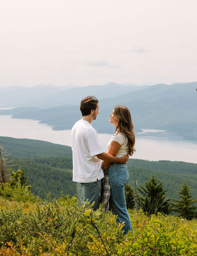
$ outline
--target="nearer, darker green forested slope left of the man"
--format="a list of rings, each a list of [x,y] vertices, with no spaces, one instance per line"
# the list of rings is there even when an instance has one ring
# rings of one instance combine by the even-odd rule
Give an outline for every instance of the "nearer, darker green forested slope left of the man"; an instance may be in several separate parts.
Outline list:
[[[71,157],[45,157],[13,159],[12,169],[16,172],[19,166],[25,170],[25,176],[32,186],[32,193],[42,199],[50,192],[51,198],[76,194],[75,183],[72,181]],[[79,191],[81,195],[81,191]]]

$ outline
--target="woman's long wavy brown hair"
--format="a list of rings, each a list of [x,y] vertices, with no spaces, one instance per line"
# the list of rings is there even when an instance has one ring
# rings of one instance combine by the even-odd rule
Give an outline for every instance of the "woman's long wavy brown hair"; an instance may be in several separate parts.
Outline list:
[[[130,156],[133,155],[135,148],[135,131],[131,120],[131,114],[127,107],[118,105],[114,108],[114,117],[118,119],[115,134],[122,133],[128,139],[127,147]]]

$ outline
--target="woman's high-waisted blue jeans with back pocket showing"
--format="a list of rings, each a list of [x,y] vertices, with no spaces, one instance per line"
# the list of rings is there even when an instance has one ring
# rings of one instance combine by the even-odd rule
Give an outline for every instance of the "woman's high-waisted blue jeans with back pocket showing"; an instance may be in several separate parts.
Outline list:
[[[109,199],[112,213],[117,215],[116,221],[124,222],[124,234],[132,231],[131,220],[126,207],[124,189],[129,179],[126,164],[111,163],[108,167],[111,195]]]

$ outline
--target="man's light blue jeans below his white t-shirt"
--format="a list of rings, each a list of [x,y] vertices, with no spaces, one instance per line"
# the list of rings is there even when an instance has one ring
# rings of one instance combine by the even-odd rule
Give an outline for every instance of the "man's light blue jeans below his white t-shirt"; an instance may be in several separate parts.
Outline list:
[[[94,206],[92,207],[93,210],[97,210],[99,207],[98,201],[101,191],[101,179],[95,182],[90,183],[81,183],[81,186],[83,188],[83,205],[85,201],[88,199],[90,201],[90,204],[95,202]]]

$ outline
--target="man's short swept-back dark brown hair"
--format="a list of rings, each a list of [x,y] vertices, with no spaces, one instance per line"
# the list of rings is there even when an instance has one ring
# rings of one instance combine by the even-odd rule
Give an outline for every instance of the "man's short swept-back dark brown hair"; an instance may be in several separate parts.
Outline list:
[[[90,115],[91,109],[96,110],[98,99],[94,96],[85,97],[80,104],[82,116]]]

